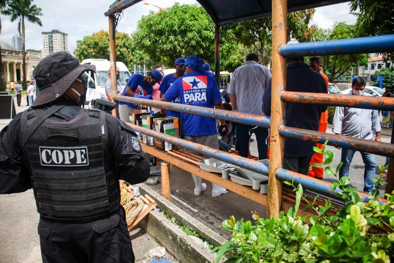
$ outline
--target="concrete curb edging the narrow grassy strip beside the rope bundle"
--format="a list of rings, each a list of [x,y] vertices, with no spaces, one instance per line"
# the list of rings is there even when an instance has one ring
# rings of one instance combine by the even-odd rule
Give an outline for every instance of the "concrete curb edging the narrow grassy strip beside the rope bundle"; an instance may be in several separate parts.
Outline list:
[[[148,194],[157,202],[162,211],[174,217],[182,225],[188,226],[196,231],[198,235],[213,246],[220,246],[227,240],[212,229],[201,224],[199,221],[188,215],[180,208],[172,204],[163,196],[155,192],[147,185],[139,184],[141,194]],[[172,254],[179,262],[206,263],[214,262],[216,256],[205,248],[194,236],[189,236],[180,228],[162,216],[158,211],[152,211],[147,217],[141,220],[140,227],[149,235],[153,236],[159,243],[163,244],[166,250]]]

